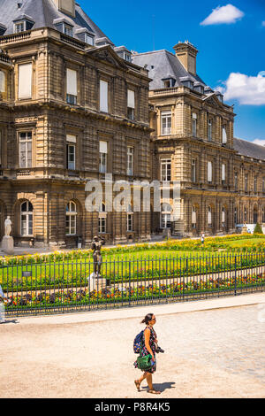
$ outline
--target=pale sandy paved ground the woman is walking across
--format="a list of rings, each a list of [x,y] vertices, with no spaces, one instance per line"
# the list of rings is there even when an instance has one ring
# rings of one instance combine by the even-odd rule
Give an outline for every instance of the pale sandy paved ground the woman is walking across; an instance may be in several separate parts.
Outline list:
[[[0,397],[150,398],[145,384],[134,388],[132,343],[152,310],[166,351],[154,377],[161,398],[265,397],[265,296],[232,302],[10,320],[0,325]]]

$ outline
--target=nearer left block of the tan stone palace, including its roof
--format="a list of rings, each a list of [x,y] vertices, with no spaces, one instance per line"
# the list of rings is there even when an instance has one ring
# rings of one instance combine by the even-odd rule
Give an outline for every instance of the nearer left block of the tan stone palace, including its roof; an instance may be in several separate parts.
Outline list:
[[[147,212],[85,209],[87,180],[150,181],[148,71],[74,0],[0,0],[0,238],[150,238]]]

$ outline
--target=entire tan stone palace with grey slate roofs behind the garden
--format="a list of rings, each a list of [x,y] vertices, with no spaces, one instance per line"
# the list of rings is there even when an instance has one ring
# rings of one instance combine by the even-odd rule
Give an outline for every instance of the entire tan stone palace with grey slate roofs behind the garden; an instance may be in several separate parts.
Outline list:
[[[117,47],[74,0],[0,0],[0,239],[8,215],[17,245],[54,248],[265,222],[265,148],[234,138],[198,50],[174,50]],[[169,182],[161,212],[87,212],[106,173]]]

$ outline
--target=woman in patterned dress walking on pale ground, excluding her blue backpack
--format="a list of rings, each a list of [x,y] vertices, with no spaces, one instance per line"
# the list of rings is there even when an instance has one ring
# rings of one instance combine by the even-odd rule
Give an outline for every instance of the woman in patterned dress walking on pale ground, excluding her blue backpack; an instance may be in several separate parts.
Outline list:
[[[155,315],[153,313],[149,313],[144,320],[142,320],[142,324],[146,324],[147,327],[144,331],[143,335],[143,345],[140,350],[140,357],[146,357],[149,354],[152,356],[152,366],[144,371],[144,374],[140,377],[139,380],[135,380],[135,386],[138,391],[140,391],[140,383],[147,379],[148,381],[148,393],[160,395],[161,391],[155,390],[153,387],[153,379],[152,374],[156,371],[156,359],[155,359],[155,350],[157,348],[157,338],[155,334],[155,329],[153,328],[155,325]],[[135,368],[139,368],[137,361],[134,363]]]

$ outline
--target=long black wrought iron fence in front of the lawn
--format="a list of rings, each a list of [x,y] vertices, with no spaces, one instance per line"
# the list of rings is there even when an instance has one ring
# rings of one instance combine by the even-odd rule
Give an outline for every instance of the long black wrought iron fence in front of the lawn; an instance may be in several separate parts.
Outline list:
[[[23,264],[24,263],[24,264]],[[92,258],[2,264],[9,316],[94,311],[237,296],[265,287],[265,253],[167,258]]]

